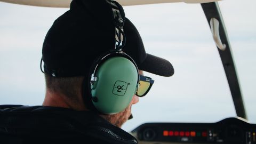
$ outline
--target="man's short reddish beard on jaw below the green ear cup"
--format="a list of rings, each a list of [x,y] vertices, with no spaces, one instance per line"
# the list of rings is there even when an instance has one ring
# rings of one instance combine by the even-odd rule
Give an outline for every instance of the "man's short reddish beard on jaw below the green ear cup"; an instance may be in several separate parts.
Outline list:
[[[105,118],[111,124],[121,128],[122,125],[130,117],[130,115],[131,115],[131,106],[128,106],[127,108],[125,108],[120,113],[117,113],[117,114],[114,114],[114,115],[100,115],[100,116]]]

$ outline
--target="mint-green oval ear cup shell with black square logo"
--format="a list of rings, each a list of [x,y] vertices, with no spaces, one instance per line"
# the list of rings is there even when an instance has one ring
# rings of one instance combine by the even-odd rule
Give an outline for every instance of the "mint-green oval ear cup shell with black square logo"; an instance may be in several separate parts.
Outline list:
[[[138,86],[138,69],[124,57],[111,57],[95,73],[97,83],[91,90],[93,105],[101,113],[116,114],[132,100]]]

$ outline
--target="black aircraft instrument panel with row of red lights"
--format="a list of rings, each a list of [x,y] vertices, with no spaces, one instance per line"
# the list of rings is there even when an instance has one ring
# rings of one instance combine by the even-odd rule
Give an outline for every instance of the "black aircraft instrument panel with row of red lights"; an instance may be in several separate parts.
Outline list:
[[[145,123],[132,131],[139,143],[256,143],[256,124],[241,118],[217,123]]]

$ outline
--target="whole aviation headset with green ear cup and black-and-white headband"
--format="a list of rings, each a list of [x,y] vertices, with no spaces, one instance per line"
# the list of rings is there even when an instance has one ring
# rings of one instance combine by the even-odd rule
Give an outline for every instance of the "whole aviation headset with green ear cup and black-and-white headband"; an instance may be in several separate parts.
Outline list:
[[[113,10],[116,31],[115,50],[101,56],[92,66],[89,90],[93,106],[103,114],[116,114],[131,102],[139,86],[139,70],[133,59],[122,51],[125,14],[122,6],[106,0]]]

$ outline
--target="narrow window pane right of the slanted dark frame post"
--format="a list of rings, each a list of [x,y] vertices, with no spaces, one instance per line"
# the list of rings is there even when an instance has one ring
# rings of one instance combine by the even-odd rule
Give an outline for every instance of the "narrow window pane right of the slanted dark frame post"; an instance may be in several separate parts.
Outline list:
[[[256,14],[254,5],[256,1],[252,0],[219,3],[233,49],[247,118],[251,123],[256,123],[256,20],[252,19]]]

